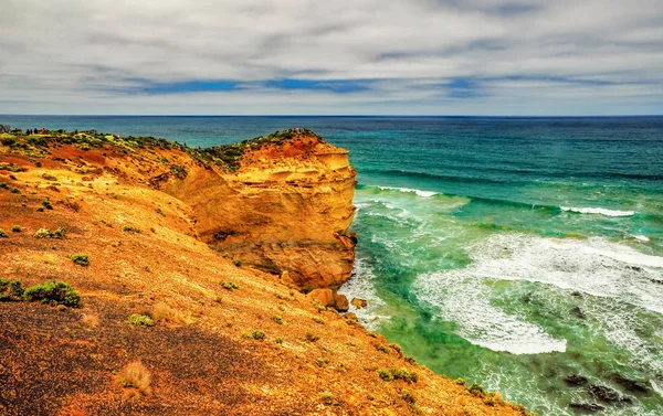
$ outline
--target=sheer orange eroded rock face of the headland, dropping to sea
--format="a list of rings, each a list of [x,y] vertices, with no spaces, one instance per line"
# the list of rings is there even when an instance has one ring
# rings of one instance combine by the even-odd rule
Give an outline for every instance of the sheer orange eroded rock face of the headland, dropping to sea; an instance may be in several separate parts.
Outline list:
[[[349,279],[356,171],[348,151],[307,130],[246,142],[235,170],[185,164],[154,181],[194,212],[200,237],[305,291]]]

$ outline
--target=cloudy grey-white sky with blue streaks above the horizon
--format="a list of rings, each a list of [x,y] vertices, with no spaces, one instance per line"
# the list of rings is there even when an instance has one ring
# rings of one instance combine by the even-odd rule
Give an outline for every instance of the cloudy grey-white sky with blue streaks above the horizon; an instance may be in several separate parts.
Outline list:
[[[663,114],[663,0],[0,4],[0,114]]]

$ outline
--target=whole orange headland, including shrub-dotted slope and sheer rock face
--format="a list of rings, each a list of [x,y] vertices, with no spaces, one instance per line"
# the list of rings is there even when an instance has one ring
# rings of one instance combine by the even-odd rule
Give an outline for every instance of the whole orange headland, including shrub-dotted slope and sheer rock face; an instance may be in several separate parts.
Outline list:
[[[355,172],[309,132],[0,139],[0,414],[525,414],[260,269],[349,273]]]

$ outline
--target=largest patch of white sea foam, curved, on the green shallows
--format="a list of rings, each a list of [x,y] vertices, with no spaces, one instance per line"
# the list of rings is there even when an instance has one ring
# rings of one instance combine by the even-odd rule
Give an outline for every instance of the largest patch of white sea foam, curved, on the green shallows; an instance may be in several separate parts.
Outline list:
[[[552,285],[663,314],[663,286],[656,282],[663,271],[663,257],[603,238],[495,234],[469,247],[469,255],[473,263],[466,268],[420,275],[413,290],[420,300],[440,311],[438,318],[456,322],[460,335],[495,351],[523,354],[566,348],[565,340],[548,335],[518,313],[508,314],[492,305],[491,285],[499,280]],[[631,334],[612,330],[613,341],[622,338],[631,345],[636,341]]]

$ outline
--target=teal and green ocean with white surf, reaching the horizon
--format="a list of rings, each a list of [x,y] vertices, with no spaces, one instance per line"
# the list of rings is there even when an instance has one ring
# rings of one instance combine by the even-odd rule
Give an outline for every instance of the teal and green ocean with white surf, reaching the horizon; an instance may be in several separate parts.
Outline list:
[[[213,146],[350,150],[362,323],[538,415],[663,415],[663,117],[0,116]],[[587,378],[569,385],[570,375]],[[608,403],[589,385],[625,398]],[[593,392],[597,390],[594,388]]]

